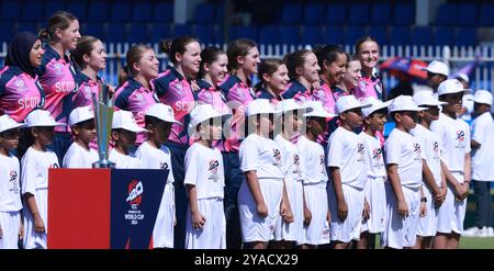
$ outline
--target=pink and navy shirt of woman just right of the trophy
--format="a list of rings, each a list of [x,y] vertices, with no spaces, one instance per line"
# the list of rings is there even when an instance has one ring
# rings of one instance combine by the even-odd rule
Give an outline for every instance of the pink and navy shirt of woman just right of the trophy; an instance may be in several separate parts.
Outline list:
[[[137,125],[142,128],[145,128],[146,126],[144,116],[147,109],[159,102],[158,98],[151,90],[146,89],[141,82],[133,78],[130,78],[116,89],[114,99],[115,109],[132,112]],[[135,144],[141,145],[145,140],[146,134],[138,133]]]

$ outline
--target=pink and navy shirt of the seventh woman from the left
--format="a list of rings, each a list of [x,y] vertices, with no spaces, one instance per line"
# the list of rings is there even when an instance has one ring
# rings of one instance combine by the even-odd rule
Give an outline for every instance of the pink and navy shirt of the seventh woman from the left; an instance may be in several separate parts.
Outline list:
[[[224,133],[228,135],[222,140],[217,148],[222,151],[238,151],[240,139],[244,138],[245,108],[255,100],[255,93],[250,86],[244,83],[240,78],[233,75],[220,86],[226,97],[228,106],[232,109],[231,131]]]

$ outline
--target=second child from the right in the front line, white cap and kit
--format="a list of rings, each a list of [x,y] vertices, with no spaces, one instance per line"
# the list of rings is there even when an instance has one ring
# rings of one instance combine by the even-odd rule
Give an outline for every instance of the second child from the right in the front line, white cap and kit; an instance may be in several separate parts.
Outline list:
[[[439,102],[431,91],[419,91],[413,97],[415,104],[426,110],[418,112],[418,124],[411,132],[419,142],[425,155],[423,160],[423,191],[426,215],[420,216],[415,248],[431,248],[433,237],[437,232],[437,212],[446,199],[446,177],[441,167],[441,139],[430,131],[430,123],[439,118]]]

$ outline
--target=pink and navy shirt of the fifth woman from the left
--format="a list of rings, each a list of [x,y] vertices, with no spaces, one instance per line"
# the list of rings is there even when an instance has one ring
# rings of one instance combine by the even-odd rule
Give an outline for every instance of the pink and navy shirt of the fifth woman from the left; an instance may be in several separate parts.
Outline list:
[[[188,127],[190,122],[190,112],[195,106],[197,94],[187,80],[173,67],[151,80],[153,89],[158,99],[164,104],[173,109],[175,118],[181,123],[173,123],[169,140],[179,145],[189,145]]]

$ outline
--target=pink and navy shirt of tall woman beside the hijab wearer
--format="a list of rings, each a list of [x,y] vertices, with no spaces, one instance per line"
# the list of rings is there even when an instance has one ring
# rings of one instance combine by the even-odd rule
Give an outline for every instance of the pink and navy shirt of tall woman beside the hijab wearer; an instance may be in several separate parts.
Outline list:
[[[42,65],[36,69],[46,94],[45,110],[57,122],[67,123],[74,109],[72,95],[77,92],[76,70],[67,56],[60,57],[49,45],[45,46]],[[69,126],[56,126],[56,132],[69,132]]]

